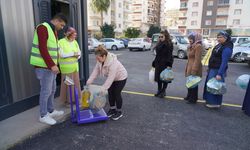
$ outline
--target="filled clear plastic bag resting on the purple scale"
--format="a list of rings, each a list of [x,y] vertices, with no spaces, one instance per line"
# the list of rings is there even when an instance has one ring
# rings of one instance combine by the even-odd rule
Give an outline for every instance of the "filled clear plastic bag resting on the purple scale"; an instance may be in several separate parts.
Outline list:
[[[90,98],[89,108],[98,112],[106,104],[106,95],[101,95],[100,93],[94,93],[93,97]]]

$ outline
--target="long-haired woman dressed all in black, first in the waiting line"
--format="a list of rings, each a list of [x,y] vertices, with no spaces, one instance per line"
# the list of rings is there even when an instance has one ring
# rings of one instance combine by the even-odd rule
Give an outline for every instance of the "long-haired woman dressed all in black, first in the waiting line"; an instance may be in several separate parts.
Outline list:
[[[159,42],[156,45],[156,56],[152,62],[152,67],[155,68],[155,81],[158,83],[158,91],[156,97],[163,98],[166,95],[166,88],[168,83],[161,81],[161,72],[168,68],[171,69],[173,65],[173,43],[167,30],[161,31],[159,35]]]

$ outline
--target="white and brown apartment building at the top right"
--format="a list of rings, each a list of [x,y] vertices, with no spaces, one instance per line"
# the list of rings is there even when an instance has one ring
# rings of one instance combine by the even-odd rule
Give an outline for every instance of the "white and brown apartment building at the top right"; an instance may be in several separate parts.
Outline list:
[[[249,0],[181,0],[179,32],[202,33],[216,37],[220,30],[231,28],[234,35],[250,35]]]

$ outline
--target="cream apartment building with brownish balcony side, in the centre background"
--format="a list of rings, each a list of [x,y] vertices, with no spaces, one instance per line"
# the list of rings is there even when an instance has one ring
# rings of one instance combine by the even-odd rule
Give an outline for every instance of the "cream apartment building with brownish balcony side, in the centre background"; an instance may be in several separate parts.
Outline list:
[[[146,33],[150,25],[160,26],[161,12],[164,9],[165,0],[132,0],[132,24],[131,27],[138,28]]]

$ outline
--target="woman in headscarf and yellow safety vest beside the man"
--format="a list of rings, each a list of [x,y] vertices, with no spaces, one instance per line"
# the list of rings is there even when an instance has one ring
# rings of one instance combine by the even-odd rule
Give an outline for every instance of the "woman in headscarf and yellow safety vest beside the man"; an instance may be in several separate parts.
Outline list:
[[[64,84],[64,79],[66,76],[70,77],[74,81],[74,85],[78,89],[78,99],[81,99],[81,87],[79,80],[79,65],[78,59],[81,57],[81,51],[77,41],[77,32],[74,28],[69,27],[65,33],[65,38],[59,40],[59,67],[61,70],[61,89],[60,89],[60,99],[66,104],[70,104],[68,88]],[[74,100],[73,100],[74,101]]]

